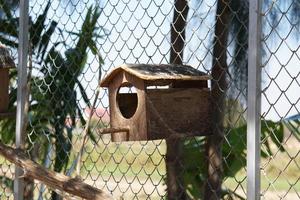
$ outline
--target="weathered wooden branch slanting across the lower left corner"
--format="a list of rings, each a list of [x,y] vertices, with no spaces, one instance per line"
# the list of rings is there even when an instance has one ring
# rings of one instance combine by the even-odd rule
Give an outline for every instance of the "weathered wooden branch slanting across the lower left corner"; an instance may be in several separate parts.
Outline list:
[[[67,192],[84,199],[107,200],[112,196],[84,183],[80,178],[71,178],[63,174],[48,170],[30,160],[19,149],[6,146],[0,142],[0,154],[15,165],[23,168],[24,176],[43,182],[52,189]]]

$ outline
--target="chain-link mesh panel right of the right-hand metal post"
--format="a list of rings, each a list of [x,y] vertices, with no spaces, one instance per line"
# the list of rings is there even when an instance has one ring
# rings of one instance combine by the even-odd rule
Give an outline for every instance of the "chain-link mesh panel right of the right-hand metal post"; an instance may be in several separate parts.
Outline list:
[[[300,198],[298,12],[298,1],[267,2],[263,9],[262,199]]]

